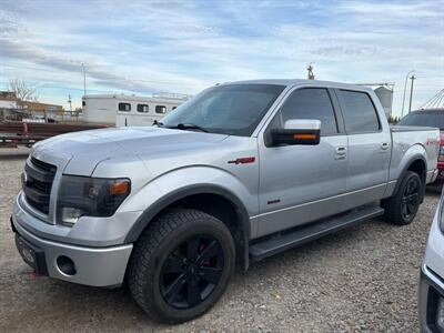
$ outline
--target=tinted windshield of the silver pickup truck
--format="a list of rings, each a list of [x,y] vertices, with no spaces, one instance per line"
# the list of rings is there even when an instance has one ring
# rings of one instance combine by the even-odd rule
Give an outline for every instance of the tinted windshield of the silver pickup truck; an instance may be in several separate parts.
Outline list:
[[[249,137],[284,88],[276,84],[213,87],[170,112],[161,125]]]

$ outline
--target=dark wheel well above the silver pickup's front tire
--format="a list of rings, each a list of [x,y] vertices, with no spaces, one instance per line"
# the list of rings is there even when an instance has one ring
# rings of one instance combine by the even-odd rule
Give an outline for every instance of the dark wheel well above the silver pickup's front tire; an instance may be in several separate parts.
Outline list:
[[[242,214],[234,203],[219,194],[192,194],[171,203],[160,211],[154,219],[161,214],[164,214],[165,212],[181,208],[200,210],[222,221],[230,230],[234,240],[236,250],[236,265],[244,270],[248,269],[249,260],[245,251],[248,251],[246,246],[249,234],[248,230],[245,230],[242,223]]]

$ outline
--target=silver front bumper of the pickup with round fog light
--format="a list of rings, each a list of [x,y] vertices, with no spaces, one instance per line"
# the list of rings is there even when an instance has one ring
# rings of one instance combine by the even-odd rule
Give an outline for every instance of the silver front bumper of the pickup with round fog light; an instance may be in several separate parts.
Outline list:
[[[122,284],[132,244],[108,248],[78,246],[37,236],[21,226],[14,215],[11,218],[11,223],[18,235],[16,240],[18,242],[24,240],[24,243],[40,252],[38,253],[40,258],[38,271],[41,273],[92,286],[118,286]],[[18,244],[19,246],[20,244]],[[74,265],[73,274],[62,272],[60,258],[68,258],[72,261]],[[23,256],[23,260],[27,262],[26,256]]]

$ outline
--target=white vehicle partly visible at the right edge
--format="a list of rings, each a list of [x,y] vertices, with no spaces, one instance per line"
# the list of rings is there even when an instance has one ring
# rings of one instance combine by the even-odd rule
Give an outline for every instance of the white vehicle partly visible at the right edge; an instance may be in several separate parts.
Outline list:
[[[422,332],[444,332],[444,196],[433,219],[421,269],[418,294]]]

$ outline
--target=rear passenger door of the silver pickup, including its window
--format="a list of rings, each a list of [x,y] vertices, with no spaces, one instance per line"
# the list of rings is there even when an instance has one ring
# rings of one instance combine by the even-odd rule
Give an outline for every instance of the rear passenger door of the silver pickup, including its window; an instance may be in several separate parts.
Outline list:
[[[390,128],[365,91],[335,90],[349,139],[347,208],[380,200],[389,179]],[[385,117],[385,114],[384,114]],[[383,122],[384,121],[384,122]]]

